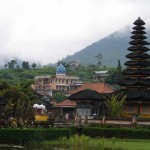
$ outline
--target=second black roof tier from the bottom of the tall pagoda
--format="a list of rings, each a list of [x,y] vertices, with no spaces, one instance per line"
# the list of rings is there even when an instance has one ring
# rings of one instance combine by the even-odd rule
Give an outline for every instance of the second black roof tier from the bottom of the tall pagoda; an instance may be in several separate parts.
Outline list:
[[[119,84],[121,86],[149,86],[150,87],[150,79],[124,79],[120,81]]]

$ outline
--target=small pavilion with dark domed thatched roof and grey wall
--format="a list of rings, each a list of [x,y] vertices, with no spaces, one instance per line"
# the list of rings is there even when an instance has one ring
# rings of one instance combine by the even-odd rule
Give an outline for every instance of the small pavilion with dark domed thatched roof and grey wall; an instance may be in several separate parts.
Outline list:
[[[76,101],[76,114],[81,116],[81,118],[87,116],[89,119],[93,119],[104,110],[103,102],[105,98],[95,90],[81,90],[69,96],[68,99]]]

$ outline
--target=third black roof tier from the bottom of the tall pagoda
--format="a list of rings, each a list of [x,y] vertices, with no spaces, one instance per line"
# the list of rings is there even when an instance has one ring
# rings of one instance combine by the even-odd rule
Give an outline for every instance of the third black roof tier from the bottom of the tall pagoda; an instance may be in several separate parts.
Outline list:
[[[124,75],[144,75],[144,76],[150,76],[150,70],[149,69],[137,69],[137,70],[132,70],[132,69],[126,69],[122,71]]]

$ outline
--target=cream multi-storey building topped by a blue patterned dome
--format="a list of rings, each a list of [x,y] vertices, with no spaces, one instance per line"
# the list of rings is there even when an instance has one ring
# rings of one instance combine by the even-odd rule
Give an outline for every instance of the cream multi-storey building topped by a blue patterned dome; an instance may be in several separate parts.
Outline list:
[[[66,68],[60,64],[56,68],[56,75],[36,76],[33,89],[41,95],[52,96],[54,92],[68,93],[79,86],[79,77],[67,76]]]

